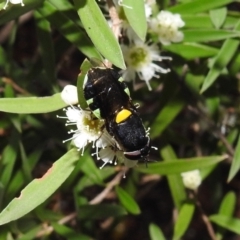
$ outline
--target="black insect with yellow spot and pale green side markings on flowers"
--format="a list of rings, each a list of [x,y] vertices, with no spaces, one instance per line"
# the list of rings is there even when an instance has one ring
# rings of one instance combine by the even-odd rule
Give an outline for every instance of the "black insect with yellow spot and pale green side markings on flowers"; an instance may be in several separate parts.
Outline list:
[[[150,138],[129,96],[123,78],[110,68],[91,68],[84,79],[84,97],[97,118],[130,160],[147,160]]]

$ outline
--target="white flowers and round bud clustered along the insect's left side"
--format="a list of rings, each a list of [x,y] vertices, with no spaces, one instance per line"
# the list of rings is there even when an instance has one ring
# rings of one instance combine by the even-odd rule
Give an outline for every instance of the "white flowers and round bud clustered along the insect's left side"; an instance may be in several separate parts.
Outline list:
[[[66,119],[66,126],[75,127],[74,130],[68,132],[72,134],[72,137],[64,142],[72,140],[82,155],[86,146],[92,144],[92,147],[96,149],[93,155],[104,162],[100,168],[103,168],[107,163],[116,164],[117,160],[123,162],[127,167],[133,167],[137,164],[137,161],[129,160],[124,156],[124,152],[117,142],[106,131],[103,120],[97,119],[91,111],[83,110],[80,106],[72,106],[76,103],[77,98],[75,86],[67,85],[62,91],[61,97],[70,106],[64,109],[66,116],[57,117]]]

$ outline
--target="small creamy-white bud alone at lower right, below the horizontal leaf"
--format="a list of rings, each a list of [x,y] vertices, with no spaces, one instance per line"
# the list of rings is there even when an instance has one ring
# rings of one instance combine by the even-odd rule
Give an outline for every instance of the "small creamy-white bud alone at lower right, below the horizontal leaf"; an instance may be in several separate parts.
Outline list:
[[[181,173],[183,184],[186,188],[196,190],[202,182],[200,171],[193,170]]]

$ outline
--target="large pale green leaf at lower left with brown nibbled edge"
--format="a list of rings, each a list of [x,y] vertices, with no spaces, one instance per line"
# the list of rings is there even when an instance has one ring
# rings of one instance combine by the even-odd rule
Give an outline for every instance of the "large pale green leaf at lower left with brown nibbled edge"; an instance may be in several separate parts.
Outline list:
[[[34,179],[0,213],[0,225],[14,221],[39,206],[67,179],[79,160],[79,152],[72,149],[57,160],[39,179]]]

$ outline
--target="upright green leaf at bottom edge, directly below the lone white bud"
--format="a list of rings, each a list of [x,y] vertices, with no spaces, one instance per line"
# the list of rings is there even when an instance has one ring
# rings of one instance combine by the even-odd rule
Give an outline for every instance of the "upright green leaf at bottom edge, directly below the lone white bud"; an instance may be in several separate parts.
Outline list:
[[[174,226],[173,239],[178,240],[184,235],[193,218],[195,205],[193,203],[184,203],[179,212],[177,222]]]

